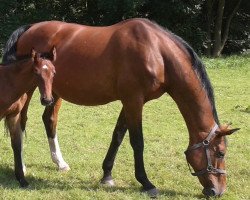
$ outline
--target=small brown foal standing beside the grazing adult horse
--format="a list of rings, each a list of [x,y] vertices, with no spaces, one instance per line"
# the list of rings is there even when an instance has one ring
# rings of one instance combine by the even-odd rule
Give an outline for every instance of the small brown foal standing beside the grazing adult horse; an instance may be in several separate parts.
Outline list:
[[[55,49],[52,55],[55,58]],[[44,59],[34,50],[31,55],[22,56],[11,64],[0,65],[0,120],[5,118],[6,128],[10,132],[15,158],[15,175],[21,186],[27,186],[27,182],[22,179],[25,166],[22,165],[21,155],[24,131],[21,110],[28,99],[26,92],[38,86],[42,105],[52,104],[54,73],[55,67],[51,61]]]

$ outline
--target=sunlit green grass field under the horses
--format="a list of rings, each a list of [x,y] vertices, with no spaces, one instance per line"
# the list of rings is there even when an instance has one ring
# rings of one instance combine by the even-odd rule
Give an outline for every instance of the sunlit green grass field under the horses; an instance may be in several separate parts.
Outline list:
[[[250,58],[204,59],[214,86],[221,123],[241,130],[230,137],[227,153],[228,190],[223,200],[250,199]],[[79,107],[63,103],[58,134],[71,171],[60,173],[50,159],[43,107],[38,93],[29,110],[24,159],[31,187],[19,188],[13,173],[10,138],[0,122],[0,199],[149,199],[134,178],[133,153],[128,135],[118,153],[113,176],[115,188],[99,185],[106,154],[121,104]],[[145,167],[158,187],[159,199],[205,199],[198,179],[189,173],[184,150],[188,144],[185,123],[173,100],[164,95],[145,106],[143,113]],[[248,134],[248,135],[247,135]]]

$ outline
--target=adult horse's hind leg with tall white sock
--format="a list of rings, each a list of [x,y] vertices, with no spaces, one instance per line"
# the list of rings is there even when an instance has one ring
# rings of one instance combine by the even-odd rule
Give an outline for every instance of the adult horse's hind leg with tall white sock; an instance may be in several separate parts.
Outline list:
[[[62,99],[55,94],[53,94],[53,97],[53,105],[47,106],[44,110],[43,123],[48,137],[52,161],[57,164],[60,171],[68,171],[70,168],[62,157],[56,133],[57,117]]]

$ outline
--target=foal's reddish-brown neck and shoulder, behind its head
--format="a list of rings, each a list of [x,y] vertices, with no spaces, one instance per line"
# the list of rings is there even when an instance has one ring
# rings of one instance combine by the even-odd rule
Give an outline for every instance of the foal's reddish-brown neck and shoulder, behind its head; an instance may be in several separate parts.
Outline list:
[[[32,76],[31,66],[30,61],[24,61],[1,67],[1,107],[10,106],[32,86],[34,77]]]

